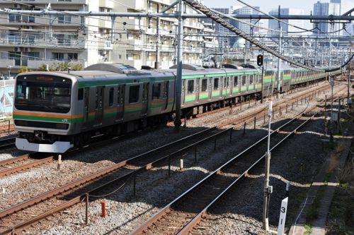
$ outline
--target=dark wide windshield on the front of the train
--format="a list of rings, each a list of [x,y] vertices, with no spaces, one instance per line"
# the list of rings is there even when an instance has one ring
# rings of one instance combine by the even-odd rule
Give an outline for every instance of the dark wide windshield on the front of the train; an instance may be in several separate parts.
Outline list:
[[[72,81],[57,76],[29,75],[16,79],[15,107],[19,110],[67,113]]]

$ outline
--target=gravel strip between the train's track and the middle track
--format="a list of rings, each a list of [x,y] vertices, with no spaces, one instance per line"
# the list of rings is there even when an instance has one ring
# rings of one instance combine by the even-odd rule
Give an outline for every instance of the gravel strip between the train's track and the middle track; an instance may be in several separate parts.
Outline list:
[[[263,104],[263,106],[264,105],[266,104]],[[254,108],[243,109],[242,113],[252,112],[253,109]],[[193,119],[192,121],[195,124],[192,125],[190,125],[188,121],[188,127],[183,128],[183,131],[178,134],[171,134],[174,132],[173,128],[166,127],[157,131],[143,133],[137,138],[130,138],[124,141],[118,140],[116,144],[109,145],[106,148],[90,151],[89,155],[82,153],[70,157],[69,160],[64,160],[62,170],[59,172],[56,170],[56,162],[52,162],[41,167],[28,169],[28,171],[11,175],[9,179],[11,180],[11,184],[4,183],[7,179],[7,177],[4,177],[3,180],[0,180],[0,188],[5,188],[7,193],[0,195],[0,210],[8,205],[19,203],[35,195],[49,191],[57,186],[62,186],[81,176],[96,172],[116,162],[152,150],[155,147],[170,143],[183,136],[202,131],[202,129],[205,128],[206,120],[208,120],[208,123],[215,123],[216,119],[220,119],[221,116],[226,116],[226,114],[228,114],[228,111],[224,111],[222,114],[212,114],[210,117],[203,116],[201,119]],[[232,116],[236,115],[234,114]],[[159,136],[159,138],[156,138],[156,136]],[[141,143],[144,143],[144,145]],[[13,150],[13,152],[13,154],[0,153],[0,159],[11,158],[17,155],[19,150]],[[105,156],[104,159],[102,156]],[[30,173],[32,171],[34,172]],[[23,177],[23,174],[28,177]]]

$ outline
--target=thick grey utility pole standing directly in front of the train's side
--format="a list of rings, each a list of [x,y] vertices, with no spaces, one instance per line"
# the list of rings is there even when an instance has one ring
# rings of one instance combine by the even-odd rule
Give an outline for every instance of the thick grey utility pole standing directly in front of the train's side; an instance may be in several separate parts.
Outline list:
[[[181,128],[181,93],[182,93],[182,60],[183,60],[183,0],[179,0],[178,16],[178,46],[177,46],[177,77],[176,77],[176,119],[174,121],[176,131]]]

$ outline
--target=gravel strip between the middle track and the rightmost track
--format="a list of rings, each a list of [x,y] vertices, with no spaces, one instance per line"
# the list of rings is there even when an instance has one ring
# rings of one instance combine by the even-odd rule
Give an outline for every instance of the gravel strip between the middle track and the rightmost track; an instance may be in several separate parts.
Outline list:
[[[316,102],[316,99],[312,100]],[[299,112],[304,109],[304,105],[299,105],[295,107],[293,112]],[[284,113],[283,113],[284,114]],[[283,120],[289,119],[294,113],[285,114],[282,116]],[[215,120],[215,114],[211,119]],[[275,118],[277,115],[275,115]],[[199,126],[205,123],[205,116],[201,119],[194,119],[191,121],[200,121]],[[190,122],[191,122],[190,121]],[[190,126],[188,123],[188,127]],[[263,125],[263,121],[258,122],[258,125]],[[193,129],[193,128],[192,128]],[[156,133],[152,133],[151,137],[155,137]],[[134,229],[141,224],[146,219],[154,215],[161,207],[169,203],[169,201],[176,198],[176,196],[183,193],[183,191],[193,186],[193,184],[200,179],[204,178],[213,169],[219,167],[220,164],[224,163],[229,157],[234,156],[239,150],[245,148],[249,143],[253,143],[256,139],[263,137],[265,135],[265,130],[248,130],[245,136],[242,135],[241,131],[238,134],[234,134],[233,143],[229,145],[227,143],[228,136],[223,140],[218,140],[218,143],[225,143],[222,147],[218,147],[217,152],[212,152],[212,145],[203,145],[198,148],[198,158],[203,158],[194,164],[194,155],[187,155],[185,159],[185,166],[187,168],[183,171],[179,171],[178,167],[172,167],[173,173],[171,177],[167,177],[166,167],[154,168],[146,173],[140,174],[137,179],[137,195],[132,195],[132,184],[127,183],[127,186],[123,187],[118,193],[114,193],[108,197],[105,197],[108,208],[108,217],[101,218],[101,200],[94,200],[90,203],[90,224],[89,226],[84,225],[84,205],[75,205],[66,212],[58,213],[55,215],[55,222],[42,222],[35,225],[35,231],[42,231],[43,233],[55,233],[57,231],[68,231],[69,234],[127,234],[129,231]],[[161,136],[161,135],[157,135]],[[151,138],[160,143],[161,140],[156,140],[156,138]],[[161,138],[160,138],[161,139]],[[239,140],[242,141],[239,141]],[[148,138],[148,140],[150,140]],[[132,140],[133,141],[133,140]],[[151,143],[149,143],[151,144]],[[149,144],[139,145],[141,147],[146,147]],[[122,147],[124,148],[124,147]],[[127,147],[128,152],[138,151],[138,148]],[[115,150],[108,150],[113,151]],[[122,150],[119,150],[119,152]],[[110,157],[108,152],[102,153]],[[118,152],[118,151],[117,151]],[[120,152],[120,155],[124,155],[124,152]],[[99,159],[98,157],[98,159]],[[93,157],[94,159],[95,157]],[[91,162],[91,157],[90,160]],[[177,165],[177,164],[176,164]],[[193,166],[193,167],[190,167]],[[188,168],[190,167],[190,168]],[[261,180],[263,183],[263,181]],[[107,193],[107,192],[106,192]],[[258,218],[256,218],[258,219]],[[254,224],[256,224],[256,220]],[[30,229],[30,231],[33,228]],[[251,231],[251,230],[250,230]],[[255,230],[256,231],[256,230]]]

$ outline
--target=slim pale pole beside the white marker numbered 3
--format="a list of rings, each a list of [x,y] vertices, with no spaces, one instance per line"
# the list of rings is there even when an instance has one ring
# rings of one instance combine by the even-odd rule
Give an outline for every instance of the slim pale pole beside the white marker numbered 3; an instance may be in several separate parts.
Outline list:
[[[268,107],[268,143],[267,152],[265,152],[265,177],[264,177],[264,198],[263,198],[263,229],[265,229],[265,234],[269,231],[269,200],[270,194],[273,191],[273,186],[269,185],[269,171],[270,171],[270,123],[272,121],[272,97],[269,97],[269,107]]]

